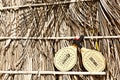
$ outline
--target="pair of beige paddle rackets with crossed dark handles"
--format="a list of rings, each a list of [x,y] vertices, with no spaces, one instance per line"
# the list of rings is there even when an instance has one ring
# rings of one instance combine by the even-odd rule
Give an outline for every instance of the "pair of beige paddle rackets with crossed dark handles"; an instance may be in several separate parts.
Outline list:
[[[77,62],[77,47],[80,48],[82,63],[89,72],[102,72],[105,69],[105,58],[101,52],[82,47],[84,36],[73,40],[73,45],[64,47],[55,54],[54,65],[60,71],[71,70]]]

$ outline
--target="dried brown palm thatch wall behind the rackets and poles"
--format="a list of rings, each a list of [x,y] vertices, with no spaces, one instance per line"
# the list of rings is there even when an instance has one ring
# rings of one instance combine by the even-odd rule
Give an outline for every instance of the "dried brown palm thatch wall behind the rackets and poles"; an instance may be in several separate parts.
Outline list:
[[[0,0],[0,8],[67,0]],[[113,36],[120,35],[120,0],[89,0],[64,5],[49,5],[0,10],[0,36]],[[68,40],[1,40],[0,70],[55,71],[53,58]],[[0,80],[119,80],[120,39],[89,39],[84,46],[97,49],[106,58],[107,75],[9,75]],[[84,71],[78,62],[72,71]]]

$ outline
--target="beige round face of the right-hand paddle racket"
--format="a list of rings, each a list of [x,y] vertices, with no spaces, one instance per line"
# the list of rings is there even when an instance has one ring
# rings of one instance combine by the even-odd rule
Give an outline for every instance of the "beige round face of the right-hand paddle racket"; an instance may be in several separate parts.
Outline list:
[[[102,72],[105,69],[105,58],[101,52],[81,48],[82,62],[89,72]]]

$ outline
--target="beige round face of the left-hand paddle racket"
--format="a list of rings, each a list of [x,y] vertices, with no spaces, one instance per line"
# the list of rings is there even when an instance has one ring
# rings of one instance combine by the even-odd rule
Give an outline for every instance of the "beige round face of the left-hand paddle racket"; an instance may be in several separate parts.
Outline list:
[[[58,50],[55,54],[54,65],[60,71],[71,70],[77,61],[77,48],[69,46]]]

